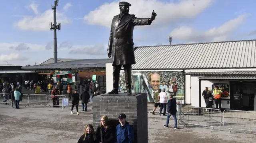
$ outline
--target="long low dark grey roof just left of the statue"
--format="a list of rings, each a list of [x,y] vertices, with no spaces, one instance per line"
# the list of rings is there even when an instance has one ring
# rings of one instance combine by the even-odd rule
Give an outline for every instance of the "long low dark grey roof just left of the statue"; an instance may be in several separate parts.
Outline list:
[[[28,69],[92,69],[92,68],[105,68],[106,63],[111,63],[112,59],[84,59],[60,63],[51,63],[45,65],[36,65],[22,67],[24,70]]]

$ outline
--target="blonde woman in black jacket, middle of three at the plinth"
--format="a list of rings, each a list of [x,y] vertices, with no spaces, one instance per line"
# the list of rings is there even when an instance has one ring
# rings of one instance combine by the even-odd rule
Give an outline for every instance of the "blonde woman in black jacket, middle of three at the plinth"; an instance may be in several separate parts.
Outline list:
[[[116,136],[115,127],[109,124],[108,116],[101,117],[100,125],[96,129],[96,137],[100,143],[114,143]]]

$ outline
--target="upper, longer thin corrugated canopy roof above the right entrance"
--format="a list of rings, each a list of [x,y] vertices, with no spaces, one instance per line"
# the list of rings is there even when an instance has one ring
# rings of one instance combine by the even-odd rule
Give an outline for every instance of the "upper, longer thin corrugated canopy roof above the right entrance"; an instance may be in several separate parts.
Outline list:
[[[213,71],[213,72],[187,72],[183,75],[256,75],[256,71]]]

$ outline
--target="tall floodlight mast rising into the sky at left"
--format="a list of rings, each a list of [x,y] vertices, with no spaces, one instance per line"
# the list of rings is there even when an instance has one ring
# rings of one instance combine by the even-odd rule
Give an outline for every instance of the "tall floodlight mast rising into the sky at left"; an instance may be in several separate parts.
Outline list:
[[[53,24],[50,23],[50,29],[53,29],[53,53],[54,53],[54,63],[58,62],[57,58],[57,29],[60,30],[60,23],[56,22],[56,8],[58,6],[59,0],[54,1],[54,5],[52,5],[53,10]]]

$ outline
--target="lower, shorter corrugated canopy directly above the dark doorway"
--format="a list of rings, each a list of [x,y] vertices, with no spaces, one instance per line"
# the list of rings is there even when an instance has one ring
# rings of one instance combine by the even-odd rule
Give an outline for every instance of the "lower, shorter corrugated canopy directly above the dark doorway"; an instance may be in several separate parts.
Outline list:
[[[212,79],[212,80],[215,80],[215,79],[218,79],[218,80],[238,80],[238,79],[256,80],[256,76],[204,76],[204,77],[200,77],[198,79],[199,80],[204,80],[204,79],[206,79],[206,80],[209,80],[209,79]]]

